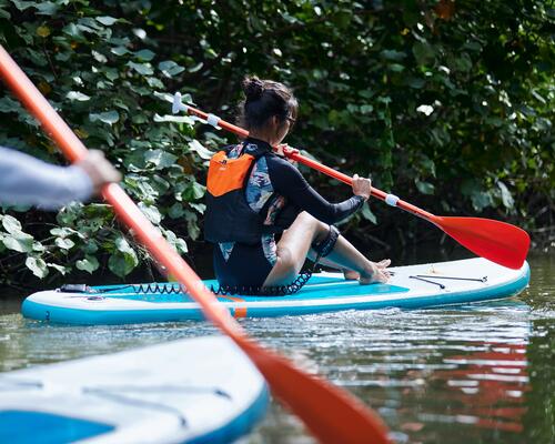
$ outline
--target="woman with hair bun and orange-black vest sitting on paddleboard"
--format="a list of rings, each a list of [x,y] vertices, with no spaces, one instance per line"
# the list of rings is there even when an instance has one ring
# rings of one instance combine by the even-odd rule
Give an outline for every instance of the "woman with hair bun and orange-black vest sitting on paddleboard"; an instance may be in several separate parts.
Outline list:
[[[361,284],[386,282],[391,261],[371,262],[333,225],[361,209],[371,181],[354,175],[354,195],[327,202],[272,150],[295,121],[293,93],[255,77],[246,78],[243,89],[242,119],[250,137],[216,153],[208,178],[205,238],[215,244],[220,285],[238,293],[289,287],[306,258],[350,271]],[[275,234],[282,234],[278,243]]]

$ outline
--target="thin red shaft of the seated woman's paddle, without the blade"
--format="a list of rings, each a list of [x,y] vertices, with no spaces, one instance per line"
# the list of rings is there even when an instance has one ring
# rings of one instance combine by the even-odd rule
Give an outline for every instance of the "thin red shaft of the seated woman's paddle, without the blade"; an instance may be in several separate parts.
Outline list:
[[[238,125],[234,125],[232,123],[229,123],[229,122],[225,122],[224,120],[220,119],[219,117],[214,115],[214,114],[209,114],[209,113],[205,113],[201,110],[198,110],[189,104],[183,104],[182,105],[183,108],[181,108],[182,110],[186,111],[189,114],[192,114],[192,115],[196,115],[198,118],[202,119],[202,120],[205,120],[206,122],[209,122],[210,124],[214,125],[214,127],[220,127],[220,128],[223,128],[224,130],[226,131],[230,131],[236,135],[239,135],[240,138],[242,139],[245,139],[249,137],[249,131],[238,127]],[[312,168],[314,170],[317,170],[320,171],[321,173],[324,173],[324,174],[327,174],[330,175],[331,178],[334,178],[343,183],[346,183],[347,185],[352,185],[353,184],[353,178],[351,178],[350,175],[347,174],[344,174],[337,170],[334,170],[330,167],[326,167],[320,162],[316,162],[315,160],[313,159],[310,159],[310,158],[306,158],[305,155],[302,155],[299,150],[294,150],[294,149],[284,149],[283,150],[283,153],[285,154],[285,157],[287,157],[289,159],[295,161],[295,162],[300,162],[309,168]],[[430,221],[434,224],[437,224],[437,216],[427,212],[427,211],[424,211],[408,202],[405,202],[401,199],[398,199],[396,195],[394,194],[389,194],[389,193],[385,193],[374,186],[372,186],[372,191],[371,191],[371,194],[374,196],[374,198],[377,198],[384,202],[386,202],[387,204],[392,205],[392,206],[396,206],[401,210],[404,210],[404,211],[407,211],[414,215],[417,215],[418,218],[422,218],[426,221]]]

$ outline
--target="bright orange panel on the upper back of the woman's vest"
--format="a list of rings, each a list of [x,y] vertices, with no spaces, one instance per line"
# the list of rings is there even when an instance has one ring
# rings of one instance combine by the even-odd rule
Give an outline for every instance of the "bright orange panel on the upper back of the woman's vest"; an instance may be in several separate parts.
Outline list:
[[[216,152],[210,159],[206,180],[208,192],[214,198],[219,198],[230,191],[242,189],[253,161],[254,155],[251,154],[229,159],[225,151]]]

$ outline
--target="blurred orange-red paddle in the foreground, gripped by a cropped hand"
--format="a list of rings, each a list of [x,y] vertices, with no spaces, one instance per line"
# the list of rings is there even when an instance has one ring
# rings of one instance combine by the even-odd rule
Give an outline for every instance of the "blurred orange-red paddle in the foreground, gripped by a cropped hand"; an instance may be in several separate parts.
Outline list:
[[[0,75],[72,162],[87,154],[87,148],[2,46],[0,46]],[[115,183],[105,185],[102,193],[152,255],[186,286],[189,294],[201,305],[205,316],[249,355],[266,379],[273,393],[301,417],[321,442],[331,444],[390,442],[387,428],[380,417],[356,397],[323,379],[302,372],[290,361],[263,349],[250,339],[121,186]]]

